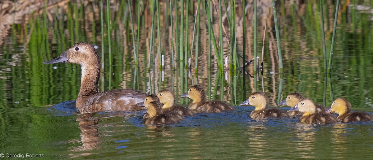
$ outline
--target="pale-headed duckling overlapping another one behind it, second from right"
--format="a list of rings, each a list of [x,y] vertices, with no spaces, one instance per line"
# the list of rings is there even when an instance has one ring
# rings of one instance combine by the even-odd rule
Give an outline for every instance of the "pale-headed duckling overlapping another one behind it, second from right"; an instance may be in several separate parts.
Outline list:
[[[299,119],[300,122],[314,124],[314,123],[335,123],[337,119],[325,112],[318,112],[316,105],[310,98],[302,98],[298,101],[298,104],[290,108],[288,112],[299,111],[303,112],[302,117]]]

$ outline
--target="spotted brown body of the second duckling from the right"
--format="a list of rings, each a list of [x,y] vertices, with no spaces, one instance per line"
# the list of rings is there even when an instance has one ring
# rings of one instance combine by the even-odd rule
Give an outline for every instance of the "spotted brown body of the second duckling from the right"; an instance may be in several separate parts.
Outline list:
[[[308,124],[314,124],[314,123],[323,123],[323,124],[329,124],[329,123],[335,123],[337,119],[325,112],[317,112],[315,114],[310,115],[303,115],[299,121],[308,123]]]

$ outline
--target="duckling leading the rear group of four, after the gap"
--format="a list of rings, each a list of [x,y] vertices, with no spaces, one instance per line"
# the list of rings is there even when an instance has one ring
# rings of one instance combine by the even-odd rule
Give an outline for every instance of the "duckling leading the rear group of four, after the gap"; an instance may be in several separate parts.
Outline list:
[[[250,94],[250,98],[240,105],[252,105],[255,110],[251,112],[250,117],[253,119],[263,119],[266,117],[286,117],[288,114],[279,109],[267,108],[268,98],[264,92],[258,91]]]

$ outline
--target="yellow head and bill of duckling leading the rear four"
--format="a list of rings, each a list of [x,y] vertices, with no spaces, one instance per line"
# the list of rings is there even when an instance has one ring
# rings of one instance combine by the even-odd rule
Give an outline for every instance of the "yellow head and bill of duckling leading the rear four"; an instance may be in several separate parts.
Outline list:
[[[267,108],[268,98],[264,92],[258,91],[250,94],[249,99],[242,102],[240,105],[252,105],[255,110],[263,110]]]

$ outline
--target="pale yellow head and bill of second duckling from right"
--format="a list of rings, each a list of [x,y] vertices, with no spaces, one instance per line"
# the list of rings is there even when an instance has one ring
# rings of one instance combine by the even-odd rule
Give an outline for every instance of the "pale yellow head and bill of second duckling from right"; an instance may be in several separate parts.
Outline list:
[[[316,105],[310,98],[302,98],[298,101],[298,104],[290,108],[288,112],[299,111],[303,112],[303,115],[309,115],[316,112]]]

